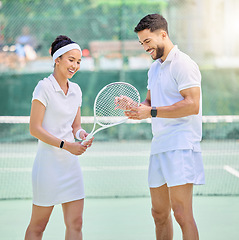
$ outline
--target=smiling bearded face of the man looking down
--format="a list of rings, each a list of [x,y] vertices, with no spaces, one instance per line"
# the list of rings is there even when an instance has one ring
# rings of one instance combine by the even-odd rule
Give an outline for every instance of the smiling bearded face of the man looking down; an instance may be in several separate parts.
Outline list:
[[[153,60],[161,58],[165,60],[165,44],[167,33],[163,30],[156,30],[151,32],[149,29],[144,29],[138,32],[140,44],[144,50],[148,52]]]

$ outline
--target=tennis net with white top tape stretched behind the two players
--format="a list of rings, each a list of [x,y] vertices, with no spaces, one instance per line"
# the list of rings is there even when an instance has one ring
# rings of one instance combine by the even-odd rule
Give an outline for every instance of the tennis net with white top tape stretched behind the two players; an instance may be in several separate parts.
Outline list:
[[[89,132],[93,117],[82,117]],[[86,197],[149,196],[147,166],[149,120],[132,121],[99,132],[79,156]],[[202,154],[206,185],[195,195],[239,195],[239,116],[204,116]],[[37,140],[29,133],[29,117],[0,117],[0,199],[32,197],[31,168]]]

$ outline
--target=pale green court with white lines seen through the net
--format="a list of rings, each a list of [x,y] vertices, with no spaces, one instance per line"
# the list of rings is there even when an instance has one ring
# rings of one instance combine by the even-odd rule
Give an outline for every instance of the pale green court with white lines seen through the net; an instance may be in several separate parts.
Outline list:
[[[1,143],[0,199],[31,198],[36,142]],[[7,149],[7,153],[6,153]],[[80,156],[87,197],[147,197],[150,141],[95,142]],[[203,141],[206,185],[195,195],[239,195],[239,142]]]

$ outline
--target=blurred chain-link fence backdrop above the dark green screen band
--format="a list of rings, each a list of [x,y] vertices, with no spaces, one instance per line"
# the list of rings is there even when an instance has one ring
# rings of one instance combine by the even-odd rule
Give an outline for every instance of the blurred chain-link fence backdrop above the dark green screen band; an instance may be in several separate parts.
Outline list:
[[[151,59],[133,30],[149,13],[166,17],[172,41],[200,65],[238,67],[238,7],[237,0],[0,0],[0,71],[49,70],[60,34],[84,49],[82,70],[147,69]]]

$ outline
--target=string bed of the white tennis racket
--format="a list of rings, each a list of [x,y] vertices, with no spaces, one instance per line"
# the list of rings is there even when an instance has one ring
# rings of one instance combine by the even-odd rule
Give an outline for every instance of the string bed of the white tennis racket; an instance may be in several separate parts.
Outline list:
[[[138,91],[131,85],[123,83],[109,85],[98,96],[95,104],[96,118],[101,125],[111,125],[127,119],[123,109],[126,109],[129,102],[125,101],[125,106],[122,106],[122,103],[121,108],[116,108],[115,99],[121,96],[128,98],[130,103],[139,105]]]

